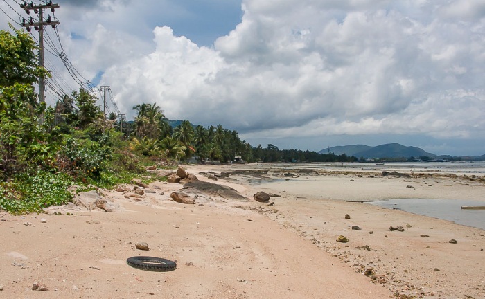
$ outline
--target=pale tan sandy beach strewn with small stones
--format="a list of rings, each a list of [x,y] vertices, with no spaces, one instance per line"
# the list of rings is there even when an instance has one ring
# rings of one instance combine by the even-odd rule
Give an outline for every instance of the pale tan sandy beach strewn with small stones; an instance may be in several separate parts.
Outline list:
[[[407,176],[382,176],[343,166],[182,165],[248,201],[177,203],[170,194],[182,184],[154,182],[141,198],[103,190],[112,212],[0,212],[0,298],[485,298],[485,230],[358,202],[485,206],[483,174],[398,169]],[[231,173],[209,179],[223,172]],[[254,201],[259,191],[274,196]],[[340,235],[349,242],[337,242]],[[176,261],[177,269],[126,264],[139,255]],[[46,291],[33,291],[35,282]]]

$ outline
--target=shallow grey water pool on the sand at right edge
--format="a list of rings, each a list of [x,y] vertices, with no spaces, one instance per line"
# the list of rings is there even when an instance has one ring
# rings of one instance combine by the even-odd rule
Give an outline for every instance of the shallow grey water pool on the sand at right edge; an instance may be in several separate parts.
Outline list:
[[[461,206],[485,206],[483,201],[453,199],[389,199],[369,202],[373,206],[391,208],[453,221],[456,224],[485,230],[485,210],[462,210]]]

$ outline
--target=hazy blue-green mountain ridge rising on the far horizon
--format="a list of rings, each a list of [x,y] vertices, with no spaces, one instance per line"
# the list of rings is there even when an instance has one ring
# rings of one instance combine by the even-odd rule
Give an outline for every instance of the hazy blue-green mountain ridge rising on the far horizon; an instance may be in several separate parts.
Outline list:
[[[370,147],[368,145],[337,146],[322,149],[319,153],[327,154],[329,151],[337,155],[346,154],[347,156],[355,156],[357,158],[418,158],[420,156],[436,158],[435,154],[425,152],[419,147],[407,147],[399,143],[389,143],[376,147]]]

